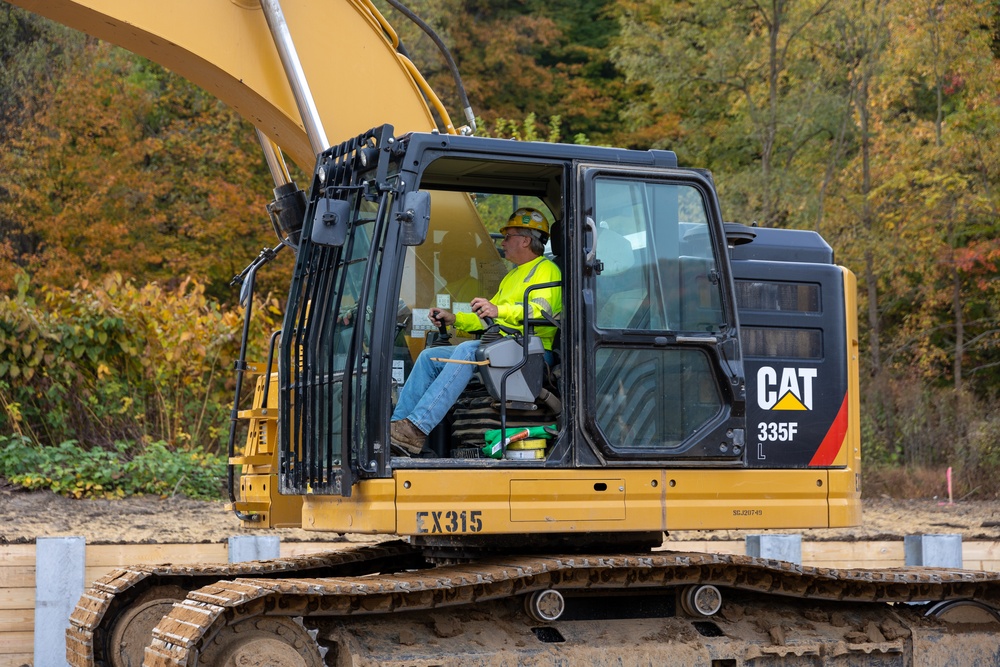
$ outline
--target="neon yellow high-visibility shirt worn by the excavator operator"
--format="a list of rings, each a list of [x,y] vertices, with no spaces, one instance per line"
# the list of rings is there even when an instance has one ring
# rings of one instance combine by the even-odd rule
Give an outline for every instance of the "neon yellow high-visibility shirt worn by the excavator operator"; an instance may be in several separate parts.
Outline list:
[[[496,322],[523,330],[524,291],[531,285],[561,280],[562,273],[559,267],[546,257],[537,257],[515,267],[500,281],[500,289],[490,299],[490,302],[497,307]],[[562,312],[561,287],[534,290],[528,298],[531,303],[532,318],[540,318],[543,312],[558,317]],[[486,328],[486,323],[474,313],[455,313],[455,328],[459,331],[479,331]],[[542,345],[546,350],[552,349],[552,341],[556,336],[555,327],[536,327],[535,334],[542,339]]]

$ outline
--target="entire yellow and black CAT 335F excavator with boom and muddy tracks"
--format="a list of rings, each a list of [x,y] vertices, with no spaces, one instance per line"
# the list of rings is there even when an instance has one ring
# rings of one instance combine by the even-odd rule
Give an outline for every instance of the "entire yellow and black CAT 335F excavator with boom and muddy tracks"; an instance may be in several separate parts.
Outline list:
[[[855,281],[817,234],[724,222],[711,174],[670,151],[480,138],[465,103],[454,127],[368,0],[14,4],[255,125],[278,244],[240,276],[247,321],[258,270],[296,261],[267,358],[237,363],[231,506],[249,528],[387,538],[119,570],[73,613],[70,664],[1000,665],[997,573],[664,543],[861,521]],[[551,222],[562,278],[535,287],[561,312],[537,317],[529,289],[522,329],[484,321],[474,379],[419,454],[397,450],[417,355],[468,335],[430,309],[496,291],[491,232],[521,207]]]

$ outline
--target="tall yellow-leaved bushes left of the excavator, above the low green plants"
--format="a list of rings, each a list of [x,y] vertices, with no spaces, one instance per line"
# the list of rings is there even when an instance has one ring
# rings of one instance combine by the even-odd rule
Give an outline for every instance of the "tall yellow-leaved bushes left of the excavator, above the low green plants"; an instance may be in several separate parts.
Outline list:
[[[220,450],[240,320],[201,283],[168,290],[111,276],[35,295],[23,274],[17,280],[17,294],[0,298],[0,432],[47,446],[164,440]],[[255,341],[265,345],[277,304],[255,312],[265,328]]]

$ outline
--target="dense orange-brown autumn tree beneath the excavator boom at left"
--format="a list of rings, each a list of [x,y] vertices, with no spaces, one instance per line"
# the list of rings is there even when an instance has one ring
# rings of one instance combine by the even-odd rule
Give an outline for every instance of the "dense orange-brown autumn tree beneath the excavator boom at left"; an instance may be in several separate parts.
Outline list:
[[[232,300],[229,278],[273,244],[249,124],[97,40],[33,85],[44,101],[0,154],[10,230],[0,284],[9,289],[19,269],[63,287],[111,272],[168,284],[195,275]]]

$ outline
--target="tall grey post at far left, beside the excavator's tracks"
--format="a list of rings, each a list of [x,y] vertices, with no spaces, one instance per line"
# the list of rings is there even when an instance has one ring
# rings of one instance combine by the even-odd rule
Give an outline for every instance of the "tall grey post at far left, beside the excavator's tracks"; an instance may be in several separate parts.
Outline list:
[[[66,664],[69,616],[86,584],[86,540],[39,537],[35,540],[35,665]]]

